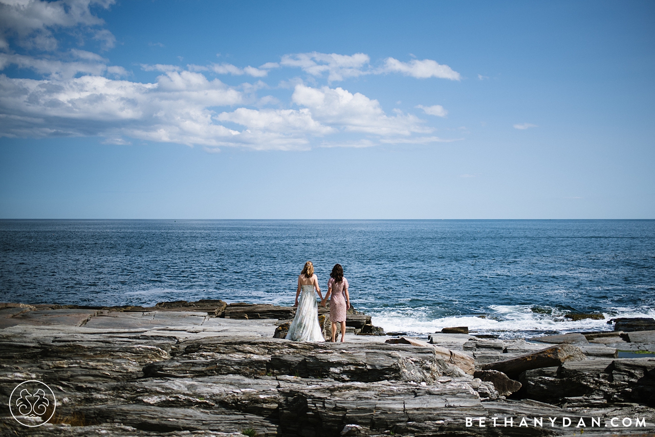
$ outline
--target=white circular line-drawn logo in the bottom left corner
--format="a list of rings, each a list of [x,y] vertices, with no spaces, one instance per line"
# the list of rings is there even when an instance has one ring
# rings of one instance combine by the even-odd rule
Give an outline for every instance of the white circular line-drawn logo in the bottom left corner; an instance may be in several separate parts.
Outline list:
[[[9,396],[9,411],[20,425],[40,427],[52,419],[57,400],[50,387],[30,379],[16,385]]]

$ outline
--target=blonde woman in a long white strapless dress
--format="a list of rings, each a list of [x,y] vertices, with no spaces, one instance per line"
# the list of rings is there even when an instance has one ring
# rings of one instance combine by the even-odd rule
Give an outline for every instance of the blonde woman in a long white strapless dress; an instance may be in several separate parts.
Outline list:
[[[295,292],[295,304],[293,304],[297,309],[293,322],[289,326],[287,340],[325,341],[318,324],[318,305],[314,290],[318,293],[318,298],[323,300],[321,288],[318,287],[318,278],[314,275],[314,265],[311,261],[307,261],[298,276],[298,289]],[[300,296],[300,301],[298,296]]]

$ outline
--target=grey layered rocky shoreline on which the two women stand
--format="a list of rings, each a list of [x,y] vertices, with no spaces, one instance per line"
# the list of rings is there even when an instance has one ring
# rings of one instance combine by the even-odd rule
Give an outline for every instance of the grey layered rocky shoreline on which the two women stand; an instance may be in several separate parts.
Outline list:
[[[294,313],[220,300],[0,304],[0,432],[655,435],[649,321],[528,340],[447,332],[425,339],[382,335],[371,317],[351,311],[341,344],[280,338]],[[47,383],[58,402],[52,420],[35,428],[14,421],[8,407],[28,379]]]

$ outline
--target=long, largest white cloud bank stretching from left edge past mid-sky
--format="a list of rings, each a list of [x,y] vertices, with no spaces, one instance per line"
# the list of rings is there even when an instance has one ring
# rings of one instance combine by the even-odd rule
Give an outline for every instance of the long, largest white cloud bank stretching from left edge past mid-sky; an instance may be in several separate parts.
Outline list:
[[[251,99],[248,88],[255,89],[257,84],[232,87],[218,79],[209,80],[202,73],[158,68],[168,71],[153,83],[97,75],[43,80],[0,75],[0,136],[100,136],[111,144],[126,144],[132,138],[210,149],[229,146],[256,150],[309,149],[320,137],[349,132],[365,137],[327,139],[318,145],[370,147],[457,141],[415,137],[431,131],[416,116],[402,111],[390,116],[375,99],[327,86],[296,85],[291,100],[299,109],[241,106],[217,112],[212,108],[244,105],[246,98]],[[120,67],[112,71],[126,73]],[[267,97],[260,103],[276,101]]]

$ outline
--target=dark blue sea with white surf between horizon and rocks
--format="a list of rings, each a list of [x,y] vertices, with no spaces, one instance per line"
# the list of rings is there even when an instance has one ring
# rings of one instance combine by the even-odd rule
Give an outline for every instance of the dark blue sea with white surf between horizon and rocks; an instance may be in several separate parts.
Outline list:
[[[387,331],[655,317],[655,220],[0,220],[0,301],[291,305],[307,260],[323,288],[342,264],[354,307]]]

